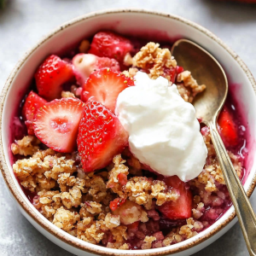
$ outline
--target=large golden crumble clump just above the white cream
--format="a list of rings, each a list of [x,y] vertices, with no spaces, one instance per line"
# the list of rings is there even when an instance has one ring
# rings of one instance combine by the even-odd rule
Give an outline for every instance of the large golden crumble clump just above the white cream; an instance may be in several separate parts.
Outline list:
[[[177,66],[177,61],[169,49],[161,49],[160,44],[150,42],[133,57],[133,66],[148,70],[150,79],[157,79],[164,75],[165,68]],[[168,79],[166,77],[166,79]],[[168,79],[170,81],[170,78]]]

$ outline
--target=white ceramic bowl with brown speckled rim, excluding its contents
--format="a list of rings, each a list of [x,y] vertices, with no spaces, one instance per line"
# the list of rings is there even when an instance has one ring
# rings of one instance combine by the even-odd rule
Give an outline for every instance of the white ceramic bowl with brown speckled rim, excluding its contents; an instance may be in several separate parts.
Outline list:
[[[256,138],[256,97],[255,80],[252,74],[241,61],[238,55],[228,48],[212,32],[195,23],[184,20],[175,15],[166,15],[153,11],[139,9],[117,9],[107,10],[89,15],[84,15],[78,19],[71,20],[59,26],[54,32],[43,38],[35,47],[30,49],[26,55],[16,65],[10,74],[2,93],[1,114],[1,143],[0,160],[5,182],[7,183],[10,195],[15,199],[22,214],[50,241],[63,247],[67,251],[76,255],[191,255],[203,247],[207,247],[212,241],[222,236],[230,227],[236,223],[235,211],[230,207],[224,216],[219,218],[207,230],[199,235],[182,241],[169,247],[161,247],[149,250],[121,251],[106,247],[100,247],[81,241],[70,236],[51,224],[44,218],[28,201],[17,182],[10,163],[11,152],[11,125],[17,102],[20,102],[26,89],[28,88],[32,76],[38,65],[44,58],[53,53],[60,52],[83,38],[92,36],[102,29],[110,29],[123,34],[151,35],[165,38],[189,38],[197,44],[207,49],[223,65],[228,74],[230,84],[236,84],[236,97],[239,100],[247,120],[250,132],[248,160],[247,160],[247,180],[244,188],[250,196],[255,187],[256,161],[255,158],[255,138]],[[11,216],[10,216],[11,218]],[[18,230],[17,230],[18,232]]]

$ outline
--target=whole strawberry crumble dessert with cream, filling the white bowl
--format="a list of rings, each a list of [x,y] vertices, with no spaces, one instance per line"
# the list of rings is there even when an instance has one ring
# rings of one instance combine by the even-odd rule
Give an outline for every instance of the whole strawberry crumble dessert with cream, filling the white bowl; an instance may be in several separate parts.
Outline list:
[[[177,66],[169,44],[144,43],[97,32],[49,55],[21,102],[16,126],[26,132],[11,144],[15,175],[45,218],[122,250],[189,239],[231,205],[209,129],[195,118],[207,84]],[[218,126],[242,178],[245,127],[232,98]]]

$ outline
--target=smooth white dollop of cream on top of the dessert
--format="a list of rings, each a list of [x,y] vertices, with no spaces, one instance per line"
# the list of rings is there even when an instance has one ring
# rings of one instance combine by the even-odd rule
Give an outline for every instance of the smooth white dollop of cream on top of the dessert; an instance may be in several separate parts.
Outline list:
[[[201,173],[207,147],[195,108],[183,100],[175,84],[137,72],[135,86],[119,94],[115,113],[129,134],[131,153],[141,163],[183,181]]]

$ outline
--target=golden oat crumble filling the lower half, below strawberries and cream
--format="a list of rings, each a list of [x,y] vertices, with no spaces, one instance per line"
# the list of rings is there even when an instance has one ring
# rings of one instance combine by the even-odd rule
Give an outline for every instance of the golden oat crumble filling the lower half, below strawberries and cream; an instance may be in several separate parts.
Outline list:
[[[208,148],[208,158],[214,159],[216,153],[209,131],[203,137]],[[24,137],[19,142],[26,140],[27,137]],[[31,137],[30,141],[34,140],[35,137]],[[14,164],[16,176],[23,187],[38,193],[33,199],[33,205],[45,218],[84,241],[99,244],[111,236],[113,239],[106,243],[107,247],[129,249],[127,239],[132,233],[130,230],[127,233],[127,225],[137,221],[147,224],[151,218],[158,221],[160,216],[154,210],[155,207],[166,201],[178,200],[176,189],[167,189],[163,181],[140,176],[143,166],[127,149],[123,152],[126,160],[120,154],[114,156],[108,172],[84,173],[75,165],[75,154],[61,154],[52,149],[38,150],[37,144],[33,147],[30,150],[36,153],[32,157],[17,160]],[[235,154],[229,154],[237,174],[241,176],[241,161]],[[120,173],[126,177],[130,173],[138,176],[120,183]],[[143,237],[140,247],[148,249],[168,246],[195,236],[209,225],[207,221],[198,220],[206,211],[205,205],[209,201],[218,204],[225,197],[218,191],[219,185],[224,185],[218,162],[210,161],[201,174],[189,183],[199,189],[199,195],[194,197],[193,218],[188,218],[187,224],[179,228],[172,228],[166,236],[161,232],[160,235],[155,233],[144,236],[141,231],[137,231],[137,236]],[[109,202],[116,197],[123,198],[125,203],[111,211]]]

